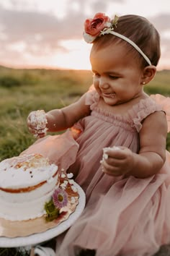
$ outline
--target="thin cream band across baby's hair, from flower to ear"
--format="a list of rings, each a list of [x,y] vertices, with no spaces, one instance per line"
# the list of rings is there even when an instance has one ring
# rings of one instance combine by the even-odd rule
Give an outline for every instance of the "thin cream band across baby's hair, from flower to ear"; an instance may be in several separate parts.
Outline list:
[[[121,35],[120,33],[117,33],[117,32],[115,32],[113,30],[102,31],[102,35],[104,35],[104,34],[115,35],[115,36],[117,36],[117,38],[121,38],[122,40],[125,40],[126,42],[130,43],[130,45],[133,46],[143,56],[143,58],[148,62],[148,64],[151,66],[151,61],[150,61],[150,59],[148,59],[146,54],[144,54],[143,51],[132,40],[127,38],[125,35]]]

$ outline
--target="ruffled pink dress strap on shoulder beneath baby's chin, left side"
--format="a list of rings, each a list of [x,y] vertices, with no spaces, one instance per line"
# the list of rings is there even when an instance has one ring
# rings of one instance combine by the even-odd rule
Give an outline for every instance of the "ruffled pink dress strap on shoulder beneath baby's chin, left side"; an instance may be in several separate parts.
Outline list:
[[[99,102],[99,94],[97,93],[97,90],[94,88],[94,85],[91,85],[88,92],[86,92],[86,105],[90,106],[90,109],[94,109],[95,106],[97,106],[97,103]]]

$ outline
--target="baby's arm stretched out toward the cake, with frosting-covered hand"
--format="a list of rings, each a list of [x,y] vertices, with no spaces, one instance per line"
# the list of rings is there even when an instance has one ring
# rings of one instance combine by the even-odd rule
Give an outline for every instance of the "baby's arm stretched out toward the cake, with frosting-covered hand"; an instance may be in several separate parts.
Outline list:
[[[72,127],[73,124],[82,117],[88,116],[90,114],[90,108],[85,104],[85,98],[86,95],[83,95],[76,103],[72,103],[61,109],[53,109],[47,113],[44,112],[46,119],[44,124],[48,132],[57,132],[67,129],[68,127]],[[32,121],[36,114],[37,111],[32,111],[27,117],[27,126],[33,134],[37,134],[37,123],[36,121]],[[39,130],[38,135],[39,137],[43,137],[44,132],[42,131],[41,133],[41,130]]]

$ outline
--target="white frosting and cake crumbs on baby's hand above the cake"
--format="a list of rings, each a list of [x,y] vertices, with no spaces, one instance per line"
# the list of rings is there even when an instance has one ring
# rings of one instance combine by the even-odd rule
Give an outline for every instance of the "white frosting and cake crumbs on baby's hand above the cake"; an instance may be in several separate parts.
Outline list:
[[[39,137],[40,134],[47,134],[48,120],[45,116],[44,110],[37,110],[30,115],[30,123],[35,127],[35,137]]]

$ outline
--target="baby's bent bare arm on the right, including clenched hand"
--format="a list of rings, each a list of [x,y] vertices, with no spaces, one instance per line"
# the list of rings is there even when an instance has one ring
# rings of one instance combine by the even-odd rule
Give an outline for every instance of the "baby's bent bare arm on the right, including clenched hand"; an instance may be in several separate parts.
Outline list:
[[[133,153],[130,149],[107,151],[109,158],[102,161],[105,173],[112,176],[123,174],[137,178],[147,178],[156,174],[164,165],[166,158],[167,124],[164,112],[158,111],[143,121],[140,130],[140,150]]]

